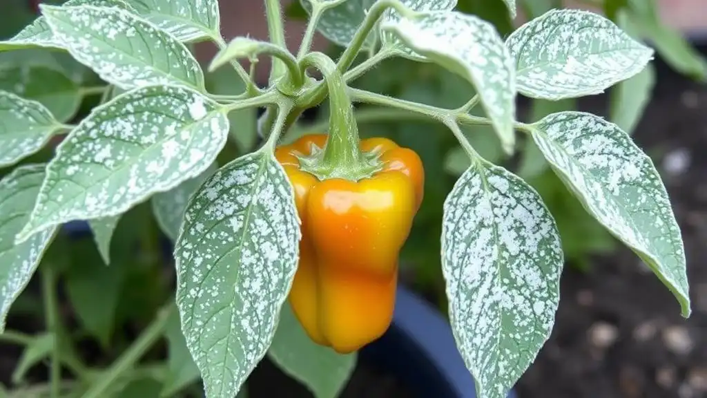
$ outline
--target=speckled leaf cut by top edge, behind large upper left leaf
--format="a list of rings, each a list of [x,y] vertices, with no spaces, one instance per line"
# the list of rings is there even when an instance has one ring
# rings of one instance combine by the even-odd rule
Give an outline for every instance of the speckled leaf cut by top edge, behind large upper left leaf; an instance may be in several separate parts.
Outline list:
[[[128,4],[182,42],[221,38],[218,0],[126,0]]]

